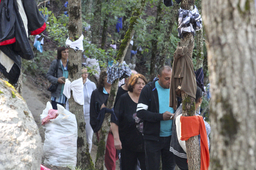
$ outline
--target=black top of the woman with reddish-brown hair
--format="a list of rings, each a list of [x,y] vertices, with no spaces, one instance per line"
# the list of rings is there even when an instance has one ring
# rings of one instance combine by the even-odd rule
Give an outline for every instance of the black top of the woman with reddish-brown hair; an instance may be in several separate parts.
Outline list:
[[[135,119],[137,103],[132,101],[128,93],[121,95],[117,102],[115,114],[118,118],[119,137],[122,147],[126,147],[136,152],[145,152],[143,135],[139,132]]]

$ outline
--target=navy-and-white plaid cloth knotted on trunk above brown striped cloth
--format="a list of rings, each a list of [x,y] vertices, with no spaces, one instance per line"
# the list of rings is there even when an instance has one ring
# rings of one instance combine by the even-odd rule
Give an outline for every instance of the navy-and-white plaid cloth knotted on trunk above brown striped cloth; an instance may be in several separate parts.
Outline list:
[[[180,8],[178,22],[178,36],[180,38],[183,38],[183,33],[193,33],[195,36],[195,31],[202,28],[202,18],[196,5],[192,11]]]

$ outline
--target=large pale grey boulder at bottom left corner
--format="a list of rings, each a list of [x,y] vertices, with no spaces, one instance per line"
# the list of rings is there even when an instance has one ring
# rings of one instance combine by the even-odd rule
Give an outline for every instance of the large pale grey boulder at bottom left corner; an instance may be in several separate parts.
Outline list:
[[[0,169],[40,170],[41,137],[26,102],[0,79]]]

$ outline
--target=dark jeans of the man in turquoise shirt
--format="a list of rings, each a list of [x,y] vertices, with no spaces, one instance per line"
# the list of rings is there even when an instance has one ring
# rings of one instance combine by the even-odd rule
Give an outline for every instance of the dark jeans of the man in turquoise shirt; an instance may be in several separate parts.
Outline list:
[[[146,168],[147,170],[159,170],[160,156],[162,170],[174,170],[175,161],[170,152],[171,137],[160,137],[159,141],[145,140]]]

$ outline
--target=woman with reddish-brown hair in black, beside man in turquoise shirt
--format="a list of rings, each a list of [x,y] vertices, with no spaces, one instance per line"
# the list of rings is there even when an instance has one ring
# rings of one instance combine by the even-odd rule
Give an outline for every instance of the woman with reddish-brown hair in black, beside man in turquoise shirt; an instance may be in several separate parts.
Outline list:
[[[114,123],[119,126],[119,138],[122,143],[122,170],[135,170],[137,159],[141,170],[146,170],[143,123],[136,116],[139,95],[145,84],[147,79],[143,75],[132,75],[129,80],[129,91],[121,95],[115,109],[118,121]]]

